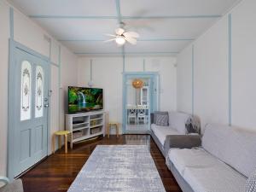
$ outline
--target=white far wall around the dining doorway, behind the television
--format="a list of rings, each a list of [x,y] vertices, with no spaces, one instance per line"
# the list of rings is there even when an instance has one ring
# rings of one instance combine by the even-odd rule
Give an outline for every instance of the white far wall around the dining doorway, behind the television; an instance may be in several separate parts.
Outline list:
[[[104,89],[104,108],[112,121],[122,122],[122,57],[79,58],[79,86],[88,86],[92,79],[95,87]],[[125,57],[125,72],[145,71],[160,73],[160,110],[176,110],[176,58],[174,57]]]

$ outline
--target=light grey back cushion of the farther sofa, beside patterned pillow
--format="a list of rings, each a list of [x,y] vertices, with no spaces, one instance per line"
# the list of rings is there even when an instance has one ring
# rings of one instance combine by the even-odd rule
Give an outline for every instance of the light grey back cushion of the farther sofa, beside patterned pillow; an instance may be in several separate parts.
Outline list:
[[[186,122],[189,116],[187,113],[169,112],[169,126],[181,134],[187,134]]]

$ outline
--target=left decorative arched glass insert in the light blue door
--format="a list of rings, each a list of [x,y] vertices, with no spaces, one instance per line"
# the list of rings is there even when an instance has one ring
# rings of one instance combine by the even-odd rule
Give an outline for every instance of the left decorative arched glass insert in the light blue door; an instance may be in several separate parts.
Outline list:
[[[20,120],[31,119],[32,66],[29,61],[21,63]]]

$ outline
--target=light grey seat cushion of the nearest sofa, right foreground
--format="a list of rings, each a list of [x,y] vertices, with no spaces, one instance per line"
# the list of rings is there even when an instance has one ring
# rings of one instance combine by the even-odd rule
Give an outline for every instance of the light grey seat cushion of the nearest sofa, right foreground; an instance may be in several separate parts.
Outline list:
[[[195,192],[241,192],[247,177],[203,148],[172,148],[169,159]]]

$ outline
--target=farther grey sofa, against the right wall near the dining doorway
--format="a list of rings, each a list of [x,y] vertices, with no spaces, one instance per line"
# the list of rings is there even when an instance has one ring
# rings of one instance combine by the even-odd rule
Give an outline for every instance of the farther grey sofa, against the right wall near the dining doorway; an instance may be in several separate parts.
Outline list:
[[[155,125],[153,122],[151,124],[151,137],[153,137],[154,142],[157,144],[158,148],[160,148],[160,151],[164,156],[166,156],[166,152],[169,149],[167,145],[165,148],[167,136],[200,133],[200,122],[191,114],[172,111],[168,112],[168,115],[168,126]],[[154,119],[154,115],[151,119]],[[199,125],[194,129],[191,128],[191,125],[195,124],[195,121],[198,121],[197,124]]]

